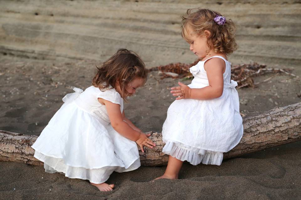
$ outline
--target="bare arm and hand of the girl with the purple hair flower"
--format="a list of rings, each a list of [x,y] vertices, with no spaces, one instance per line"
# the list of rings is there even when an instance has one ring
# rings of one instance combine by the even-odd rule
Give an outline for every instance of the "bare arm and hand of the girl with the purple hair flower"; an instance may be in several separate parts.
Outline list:
[[[189,88],[183,83],[178,83],[180,86],[171,88],[172,95],[178,96],[179,99],[198,99],[207,100],[222,96],[224,90],[223,73],[225,69],[224,60],[211,58],[204,66],[209,81],[209,86],[204,88]]]

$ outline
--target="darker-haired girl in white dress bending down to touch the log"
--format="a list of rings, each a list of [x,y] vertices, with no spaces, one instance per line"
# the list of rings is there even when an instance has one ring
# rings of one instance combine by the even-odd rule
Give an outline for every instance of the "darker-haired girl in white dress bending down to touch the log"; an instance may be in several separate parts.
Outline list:
[[[98,68],[91,87],[67,94],[62,107],[32,145],[45,172],[87,179],[100,191],[111,191],[111,173],[140,167],[137,144],[155,146],[124,115],[123,99],[144,85],[144,63],[132,51],[119,49]],[[136,143],[137,144],[136,144]]]

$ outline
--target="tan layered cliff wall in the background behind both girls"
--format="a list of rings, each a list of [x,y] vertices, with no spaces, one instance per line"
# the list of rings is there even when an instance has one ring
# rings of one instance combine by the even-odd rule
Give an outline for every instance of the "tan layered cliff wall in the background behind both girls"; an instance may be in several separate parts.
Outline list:
[[[164,3],[163,3],[164,2]],[[300,1],[0,1],[0,53],[35,59],[103,60],[119,47],[148,67],[191,63],[181,38],[187,8],[217,10],[238,24],[234,63],[300,66]],[[210,2],[210,3],[209,3]]]

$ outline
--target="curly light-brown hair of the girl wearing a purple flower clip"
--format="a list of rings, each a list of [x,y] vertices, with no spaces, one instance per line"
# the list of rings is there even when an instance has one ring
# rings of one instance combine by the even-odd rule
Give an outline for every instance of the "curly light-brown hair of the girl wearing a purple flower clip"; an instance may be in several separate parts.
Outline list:
[[[214,49],[215,53],[230,55],[238,47],[235,42],[235,24],[231,19],[226,19],[224,25],[218,25],[214,21],[214,17],[217,15],[222,16],[219,12],[208,8],[188,9],[186,14],[182,16],[182,37],[188,43],[192,42],[189,40],[187,27],[193,29],[193,34],[197,36],[202,35],[205,30],[208,30],[211,33],[207,38],[209,51]]]

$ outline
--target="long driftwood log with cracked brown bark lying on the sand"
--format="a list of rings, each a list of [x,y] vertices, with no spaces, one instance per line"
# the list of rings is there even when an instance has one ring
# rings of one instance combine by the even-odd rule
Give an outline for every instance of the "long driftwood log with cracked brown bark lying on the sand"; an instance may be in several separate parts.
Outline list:
[[[301,140],[301,103],[274,108],[272,110],[244,118],[244,135],[240,143],[224,158],[233,158],[245,153],[259,151],[277,145]],[[150,139],[156,142],[153,149],[146,148],[140,153],[144,166],[165,165],[168,155],[162,153],[164,143],[161,133],[151,132]],[[36,135],[24,135],[0,131],[0,161],[21,162],[29,165],[43,163],[33,157],[30,146],[38,138]]]

